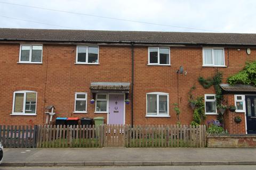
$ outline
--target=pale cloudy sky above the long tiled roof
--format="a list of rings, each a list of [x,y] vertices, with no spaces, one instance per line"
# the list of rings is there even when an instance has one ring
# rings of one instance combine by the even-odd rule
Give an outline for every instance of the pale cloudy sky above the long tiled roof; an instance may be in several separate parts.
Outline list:
[[[1,28],[256,33],[255,21],[255,0],[0,0]]]

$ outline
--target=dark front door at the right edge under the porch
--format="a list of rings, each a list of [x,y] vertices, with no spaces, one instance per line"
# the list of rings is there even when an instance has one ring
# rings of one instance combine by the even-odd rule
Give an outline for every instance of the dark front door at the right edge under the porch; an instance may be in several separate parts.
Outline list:
[[[247,133],[256,133],[256,96],[245,96]]]

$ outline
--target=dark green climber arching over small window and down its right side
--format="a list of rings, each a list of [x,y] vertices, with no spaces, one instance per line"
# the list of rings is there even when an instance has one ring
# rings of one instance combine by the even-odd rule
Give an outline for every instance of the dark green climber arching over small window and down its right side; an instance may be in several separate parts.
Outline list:
[[[198,78],[199,83],[205,88],[208,89],[211,86],[214,86],[215,89],[215,98],[216,98],[216,106],[217,109],[222,107],[222,90],[220,87],[220,83],[222,82],[222,73],[216,72],[213,77],[204,79],[203,77]],[[222,123],[223,122],[223,115],[219,113],[218,120]]]

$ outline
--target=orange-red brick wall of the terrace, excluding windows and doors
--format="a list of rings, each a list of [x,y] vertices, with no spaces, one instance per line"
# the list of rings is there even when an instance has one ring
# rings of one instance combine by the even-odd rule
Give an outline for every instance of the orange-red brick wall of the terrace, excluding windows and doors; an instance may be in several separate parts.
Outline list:
[[[87,114],[74,114],[75,92],[87,92],[92,98],[90,83],[131,82],[131,47],[100,46],[99,65],[78,65],[75,63],[75,45],[44,45],[43,64],[17,64],[19,44],[0,44],[0,124],[42,124],[45,122],[44,106],[54,105],[57,116],[96,117],[94,104],[87,101]],[[174,124],[177,118],[173,103],[179,100],[182,124],[189,124],[193,111],[188,106],[188,91],[196,85],[195,96],[214,94],[213,87],[204,89],[197,81],[199,76],[210,77],[215,71],[223,72],[223,80],[238,72],[245,61],[256,59],[256,51],[247,55],[245,48],[225,48],[227,67],[202,67],[201,47],[171,47],[171,66],[149,66],[148,47],[134,48],[134,124]],[[187,75],[178,74],[179,99],[177,93],[177,73],[182,65]],[[35,88],[37,94],[37,116],[11,116],[14,89]],[[146,93],[168,92],[171,117],[145,117]],[[129,96],[130,98],[131,96]],[[131,123],[131,105],[126,105],[126,122]],[[207,115],[207,120],[216,118]],[[30,122],[31,122],[30,121]]]

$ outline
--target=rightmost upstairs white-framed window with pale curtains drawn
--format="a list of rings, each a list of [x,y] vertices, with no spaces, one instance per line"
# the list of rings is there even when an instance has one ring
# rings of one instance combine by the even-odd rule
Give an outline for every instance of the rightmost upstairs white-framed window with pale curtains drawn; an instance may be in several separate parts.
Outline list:
[[[203,66],[225,66],[224,48],[203,48]]]

